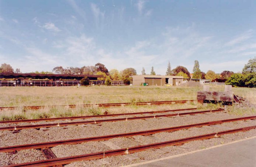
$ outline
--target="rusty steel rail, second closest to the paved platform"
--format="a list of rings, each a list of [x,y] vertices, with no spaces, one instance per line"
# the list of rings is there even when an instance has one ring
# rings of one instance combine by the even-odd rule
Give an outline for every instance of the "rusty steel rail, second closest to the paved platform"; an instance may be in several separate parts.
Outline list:
[[[136,136],[136,135],[152,135],[152,134],[161,133],[161,132],[173,132],[181,129],[189,129],[194,127],[203,127],[203,126],[209,126],[209,125],[223,124],[226,122],[235,122],[235,121],[253,120],[253,119],[256,119],[256,116],[240,117],[240,118],[218,120],[218,121],[211,121],[211,122],[202,122],[198,124],[182,125],[177,127],[153,129],[148,131],[138,131],[138,132],[123,133],[123,134],[114,134],[114,135],[107,135],[107,136],[96,136],[96,137],[90,137],[90,138],[70,139],[70,140],[64,140],[64,141],[53,141],[53,142],[43,142],[43,143],[32,143],[32,144],[26,144],[26,145],[6,146],[6,147],[1,147],[0,152],[13,152],[13,151],[26,150],[26,149],[52,148],[58,145],[80,144],[80,143],[90,142],[90,141],[104,141],[112,138],[130,137],[130,136]]]

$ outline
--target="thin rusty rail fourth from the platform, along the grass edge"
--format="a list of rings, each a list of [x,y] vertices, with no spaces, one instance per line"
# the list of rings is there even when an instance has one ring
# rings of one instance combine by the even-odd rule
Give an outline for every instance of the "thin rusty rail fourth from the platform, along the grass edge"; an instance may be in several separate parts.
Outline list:
[[[21,122],[39,122],[39,121],[56,121],[56,120],[76,120],[76,119],[86,119],[86,118],[96,118],[96,117],[115,117],[115,116],[126,116],[126,115],[137,115],[137,114],[154,114],[154,113],[167,113],[175,111],[186,111],[186,110],[196,110],[197,108],[189,109],[176,109],[176,110],[162,110],[162,111],[149,111],[149,112],[137,112],[137,113],[122,113],[122,114],[107,114],[98,116],[79,116],[79,117],[61,117],[61,118],[42,118],[42,119],[31,119],[31,120],[11,120],[11,121],[0,121],[0,124],[9,123],[21,123]]]

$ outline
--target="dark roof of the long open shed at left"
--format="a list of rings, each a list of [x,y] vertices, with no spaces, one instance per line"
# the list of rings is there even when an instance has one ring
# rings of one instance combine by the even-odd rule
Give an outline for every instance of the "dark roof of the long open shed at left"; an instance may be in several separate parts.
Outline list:
[[[3,77],[91,77],[100,78],[103,75],[71,75],[71,74],[37,74],[37,73],[0,73]]]

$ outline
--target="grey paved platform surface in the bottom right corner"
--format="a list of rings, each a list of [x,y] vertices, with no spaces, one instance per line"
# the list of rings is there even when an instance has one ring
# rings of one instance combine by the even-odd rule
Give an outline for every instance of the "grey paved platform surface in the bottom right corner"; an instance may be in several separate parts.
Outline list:
[[[139,167],[256,167],[256,138],[206,149],[164,160],[153,160]]]

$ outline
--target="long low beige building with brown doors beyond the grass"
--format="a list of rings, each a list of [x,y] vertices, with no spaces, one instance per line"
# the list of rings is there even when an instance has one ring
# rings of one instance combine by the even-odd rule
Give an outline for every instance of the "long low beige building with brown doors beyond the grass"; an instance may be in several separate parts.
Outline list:
[[[174,75],[132,75],[132,85],[181,85],[183,83],[183,76]]]

